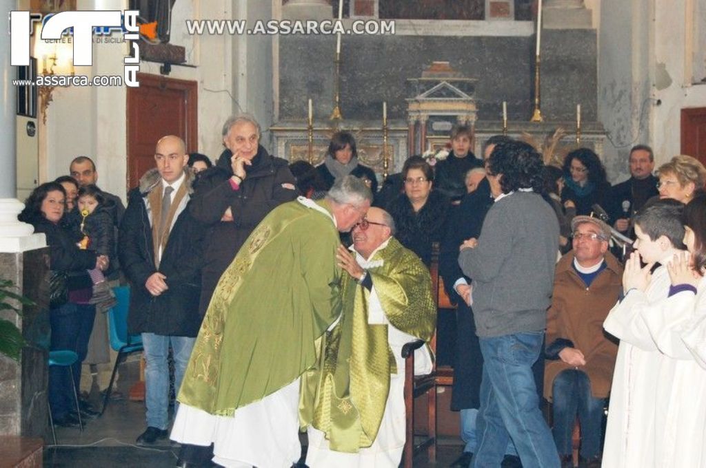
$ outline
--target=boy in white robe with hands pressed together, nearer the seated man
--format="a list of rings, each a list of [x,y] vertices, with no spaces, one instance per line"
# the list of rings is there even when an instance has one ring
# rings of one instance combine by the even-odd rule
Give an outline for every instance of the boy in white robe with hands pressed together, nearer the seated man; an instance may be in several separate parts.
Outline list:
[[[606,331],[621,340],[603,452],[606,468],[662,466],[655,454],[662,450],[665,428],[657,421],[664,421],[660,413],[669,401],[674,365],[659,350],[643,316],[669,295],[667,264],[685,249],[682,211],[681,202],[663,199],[642,209],[633,220],[637,252],[623,274],[625,298],[604,322]],[[647,266],[641,267],[640,259]]]

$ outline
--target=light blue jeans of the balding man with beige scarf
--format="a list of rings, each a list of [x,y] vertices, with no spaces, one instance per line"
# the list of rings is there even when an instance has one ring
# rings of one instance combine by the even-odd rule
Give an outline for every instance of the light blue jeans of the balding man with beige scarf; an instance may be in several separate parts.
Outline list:
[[[174,356],[174,388],[179,393],[181,379],[184,378],[186,364],[189,364],[191,349],[196,338],[187,336],[155,335],[143,333],[145,347],[145,406],[147,425],[157,429],[167,429],[169,423],[169,343],[172,343]],[[174,408],[174,412],[177,407]]]

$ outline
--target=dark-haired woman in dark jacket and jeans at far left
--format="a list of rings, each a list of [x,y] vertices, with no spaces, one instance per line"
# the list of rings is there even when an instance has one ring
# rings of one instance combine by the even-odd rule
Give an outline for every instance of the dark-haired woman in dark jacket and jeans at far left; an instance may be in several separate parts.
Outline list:
[[[88,350],[88,338],[95,318],[95,306],[88,304],[92,283],[87,270],[104,271],[108,267],[108,259],[92,250],[79,250],[68,231],[61,227],[65,203],[66,192],[61,184],[43,183],[25,200],[25,209],[17,218],[34,226],[35,233],[47,236],[52,274],[66,278],[66,297],[56,297],[54,304],[49,304],[52,328],[50,349],[69,350],[78,354],[78,361],[72,369],[73,383],[79,388],[81,362]],[[75,403],[71,373],[66,367],[49,368],[47,393],[54,424],[76,426],[78,419],[72,413]]]

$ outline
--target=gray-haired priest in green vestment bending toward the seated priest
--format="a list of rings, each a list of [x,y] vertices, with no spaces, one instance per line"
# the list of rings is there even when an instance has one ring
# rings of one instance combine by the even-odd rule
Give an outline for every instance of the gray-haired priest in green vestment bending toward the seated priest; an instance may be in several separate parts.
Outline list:
[[[179,390],[171,438],[214,444],[224,466],[289,467],[301,448],[299,377],[340,316],[339,231],[364,218],[372,194],[349,176],[324,200],[273,209],[223,273]]]

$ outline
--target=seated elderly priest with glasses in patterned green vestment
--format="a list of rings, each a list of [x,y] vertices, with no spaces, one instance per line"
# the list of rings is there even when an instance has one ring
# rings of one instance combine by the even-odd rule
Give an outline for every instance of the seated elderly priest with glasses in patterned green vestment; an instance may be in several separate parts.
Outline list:
[[[431,340],[436,326],[429,269],[392,237],[393,218],[371,208],[352,230],[354,252],[339,247],[347,271],[343,313],[321,340],[316,367],[306,371],[299,404],[309,427],[306,464],[390,467],[405,445],[405,362],[402,346]],[[426,373],[431,371],[429,348]],[[421,372],[424,373],[424,372]]]

